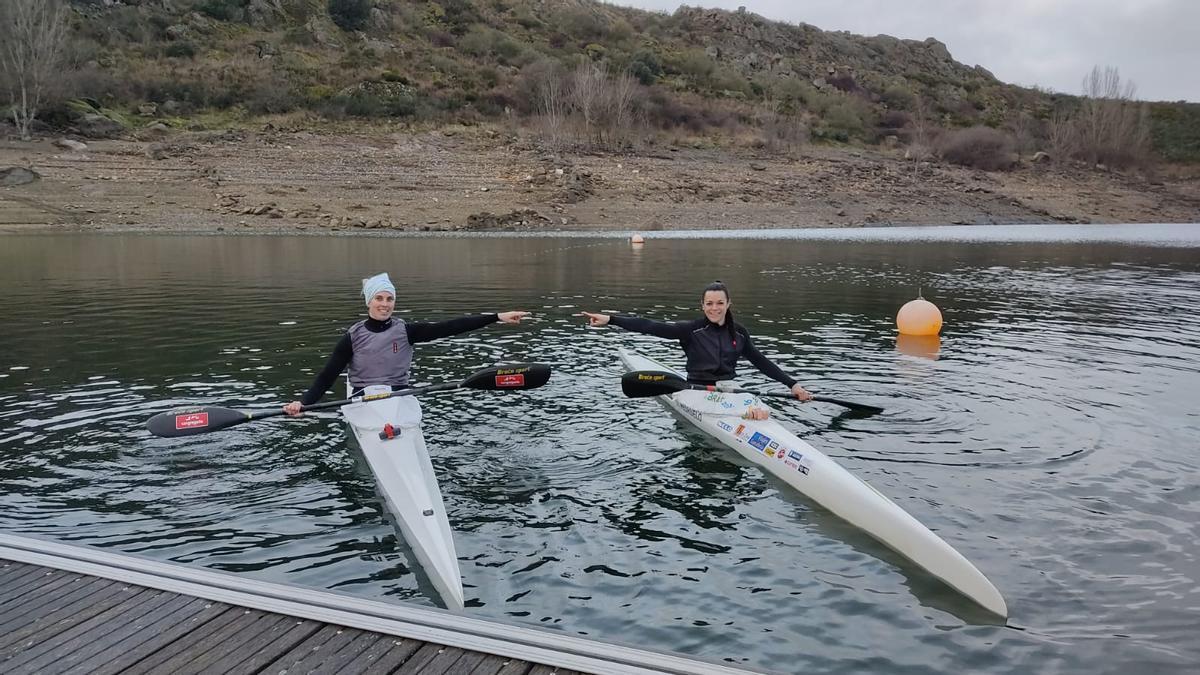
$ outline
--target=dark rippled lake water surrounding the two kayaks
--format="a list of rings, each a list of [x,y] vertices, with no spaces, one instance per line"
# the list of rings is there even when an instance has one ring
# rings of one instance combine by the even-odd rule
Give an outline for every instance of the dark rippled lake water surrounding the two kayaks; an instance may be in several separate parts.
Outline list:
[[[418,381],[556,368],[536,390],[422,400],[469,614],[785,671],[1187,671],[1200,659],[1198,247],[1187,226],[638,249],[0,238],[0,528],[430,603],[336,412],[190,438],[144,430],[176,405],[295,398],[364,313],[359,280],[388,270],[406,319],[535,312],[419,346]],[[806,387],[886,408],[775,414],[972,560],[1009,627],[654,401],[620,396],[619,346],[678,364],[677,348],[575,315],[690,318],[713,279]],[[941,339],[895,333],[918,288],[942,310]]]

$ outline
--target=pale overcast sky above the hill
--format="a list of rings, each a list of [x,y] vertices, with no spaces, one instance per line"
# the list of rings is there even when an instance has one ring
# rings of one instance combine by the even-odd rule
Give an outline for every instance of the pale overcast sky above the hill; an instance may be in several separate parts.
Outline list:
[[[1115,66],[1135,96],[1200,102],[1200,0],[606,0],[666,10],[737,10],[823,30],[946,43],[997,78],[1080,94],[1092,66]]]

